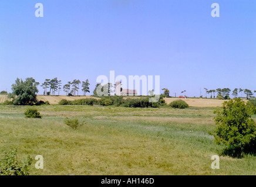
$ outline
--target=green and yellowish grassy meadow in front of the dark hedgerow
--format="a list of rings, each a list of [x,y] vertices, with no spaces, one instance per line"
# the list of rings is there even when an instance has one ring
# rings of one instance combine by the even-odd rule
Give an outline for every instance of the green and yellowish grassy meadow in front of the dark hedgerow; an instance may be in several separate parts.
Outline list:
[[[33,106],[42,119],[26,119],[28,106],[0,105],[0,156],[18,148],[18,159],[33,160],[31,175],[256,175],[256,157],[211,156],[214,108],[122,108],[103,106]],[[85,123],[73,130],[65,117]],[[255,116],[254,116],[255,119]]]

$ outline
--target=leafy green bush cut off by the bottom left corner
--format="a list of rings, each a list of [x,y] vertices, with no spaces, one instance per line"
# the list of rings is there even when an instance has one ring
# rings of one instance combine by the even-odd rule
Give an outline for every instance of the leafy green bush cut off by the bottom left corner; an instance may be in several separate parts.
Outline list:
[[[17,149],[4,151],[4,158],[1,160],[0,175],[29,175],[29,165],[32,158],[26,157],[21,163],[17,160]]]

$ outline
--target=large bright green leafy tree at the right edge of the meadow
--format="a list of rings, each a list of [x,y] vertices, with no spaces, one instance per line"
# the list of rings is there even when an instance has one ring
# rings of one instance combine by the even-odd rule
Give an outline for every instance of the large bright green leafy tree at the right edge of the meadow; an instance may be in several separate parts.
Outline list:
[[[209,132],[215,138],[215,144],[225,144],[229,148],[238,148],[240,155],[244,149],[254,147],[256,137],[256,123],[251,119],[255,113],[255,106],[251,102],[245,103],[240,98],[225,101],[221,109],[214,110],[217,128]]]

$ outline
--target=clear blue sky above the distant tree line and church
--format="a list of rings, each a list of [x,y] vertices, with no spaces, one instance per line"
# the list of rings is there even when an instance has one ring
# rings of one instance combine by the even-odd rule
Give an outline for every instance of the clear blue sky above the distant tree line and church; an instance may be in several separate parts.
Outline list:
[[[36,18],[36,3],[43,18]],[[220,17],[211,16],[211,4]],[[0,91],[16,78],[160,75],[170,95],[256,90],[256,1],[0,1]],[[162,92],[162,91],[161,91]],[[39,94],[43,89],[39,86]],[[80,93],[82,93],[80,91]],[[65,94],[63,91],[61,94]]]

